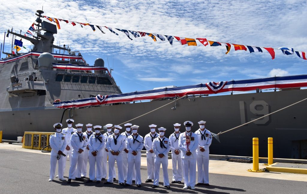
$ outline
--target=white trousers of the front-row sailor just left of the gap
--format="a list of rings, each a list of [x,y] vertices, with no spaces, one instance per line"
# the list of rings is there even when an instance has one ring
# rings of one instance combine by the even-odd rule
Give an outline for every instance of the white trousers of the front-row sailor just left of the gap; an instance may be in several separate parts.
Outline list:
[[[141,156],[140,155],[128,157],[128,175],[127,175],[127,182],[126,182],[127,184],[132,184],[132,176],[133,176],[132,171],[134,170],[134,168],[135,168],[135,184],[142,184]]]

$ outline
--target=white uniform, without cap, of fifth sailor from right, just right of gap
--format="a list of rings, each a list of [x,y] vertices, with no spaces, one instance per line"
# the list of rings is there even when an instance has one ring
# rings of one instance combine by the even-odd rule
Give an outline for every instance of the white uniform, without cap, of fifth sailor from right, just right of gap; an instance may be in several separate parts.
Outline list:
[[[144,147],[146,149],[146,160],[147,160],[147,179],[153,179],[154,177],[154,160],[155,153],[150,153],[149,150],[153,149],[153,140],[158,137],[159,134],[155,132],[154,135],[148,133],[144,138]]]

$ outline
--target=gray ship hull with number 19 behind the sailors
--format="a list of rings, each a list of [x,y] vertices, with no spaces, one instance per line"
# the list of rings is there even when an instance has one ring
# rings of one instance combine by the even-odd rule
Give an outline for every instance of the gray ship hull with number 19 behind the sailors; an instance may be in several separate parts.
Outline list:
[[[197,122],[207,121],[206,128],[213,133],[226,131],[263,115],[305,99],[307,90],[248,93],[180,99],[176,110],[171,103],[148,115],[130,121],[139,125],[139,133],[149,133],[149,124],[167,128],[166,136],[173,133],[173,123],[194,123],[192,131],[198,129]],[[71,118],[76,123],[105,125],[119,124],[145,114],[170,100],[129,103],[112,106],[79,108],[67,110],[64,119]],[[259,138],[259,156],[267,157],[267,138],[274,139],[274,157],[307,159],[307,101],[279,111],[255,123],[250,123],[220,135],[220,141],[213,139],[210,154],[252,156],[252,138]],[[41,110],[19,110],[0,112],[3,139],[16,139],[24,131],[53,132],[52,125],[60,122],[63,110],[56,108]],[[62,122],[66,127],[65,121]]]

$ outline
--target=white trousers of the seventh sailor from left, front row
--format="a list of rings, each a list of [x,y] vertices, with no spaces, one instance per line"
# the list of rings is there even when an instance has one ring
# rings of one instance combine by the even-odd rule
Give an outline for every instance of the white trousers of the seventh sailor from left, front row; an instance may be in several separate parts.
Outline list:
[[[117,163],[117,170],[118,170],[118,182],[119,183],[124,183],[124,172],[122,169],[122,155],[119,154],[118,156],[112,155],[111,153],[109,154],[109,177],[108,177],[108,182],[113,183],[113,177],[115,177],[116,175],[114,175],[114,171],[113,169],[115,168],[115,160]]]

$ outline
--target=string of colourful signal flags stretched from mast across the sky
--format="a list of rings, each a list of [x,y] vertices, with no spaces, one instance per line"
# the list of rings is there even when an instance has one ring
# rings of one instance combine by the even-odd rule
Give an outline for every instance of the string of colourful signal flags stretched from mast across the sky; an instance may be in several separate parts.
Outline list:
[[[175,40],[175,41],[179,41],[181,43],[181,45],[187,44],[188,46],[197,46],[196,40],[198,40],[204,46],[207,46],[207,45],[210,45],[210,46],[222,46],[222,45],[224,45],[224,46],[226,46],[227,52],[225,54],[229,53],[229,51],[231,49],[231,45],[232,45],[234,47],[235,51],[238,51],[238,50],[247,51],[248,50],[250,53],[262,52],[263,49],[265,49],[266,51],[269,52],[272,59],[275,59],[275,51],[274,50],[281,50],[284,55],[294,55],[294,53],[295,53],[298,57],[307,60],[306,52],[294,51],[293,48],[288,48],[288,47],[281,47],[281,48],[276,49],[276,48],[271,48],[271,47],[247,46],[247,45],[233,44],[233,43],[227,43],[227,42],[216,42],[216,41],[207,40],[207,38],[185,38],[185,37],[170,36],[170,35],[163,35],[163,34],[153,34],[153,33],[148,33],[148,32],[141,32],[141,31],[134,31],[134,30],[124,30],[124,29],[119,29],[119,28],[111,28],[111,27],[107,27],[107,26],[93,25],[93,24],[89,24],[89,23],[74,22],[74,21],[70,21],[70,20],[52,18],[52,17],[48,17],[48,16],[44,16],[44,17],[45,17],[46,20],[48,20],[50,22],[55,22],[58,29],[61,29],[60,28],[60,22],[66,22],[67,24],[72,24],[73,26],[76,26],[77,24],[79,24],[82,28],[84,26],[90,26],[93,31],[95,31],[96,30],[95,27],[97,27],[103,34],[105,34],[105,32],[103,32],[103,29],[107,28],[113,34],[119,35],[116,31],[114,31],[116,29],[118,31],[122,31],[123,33],[125,33],[126,36],[130,40],[133,40],[132,38],[130,38],[130,35],[132,35],[134,38],[143,37],[143,36],[147,35],[147,36],[151,37],[154,42],[157,42],[157,38],[158,38],[161,41],[168,40],[171,45],[173,45],[173,40]]]

